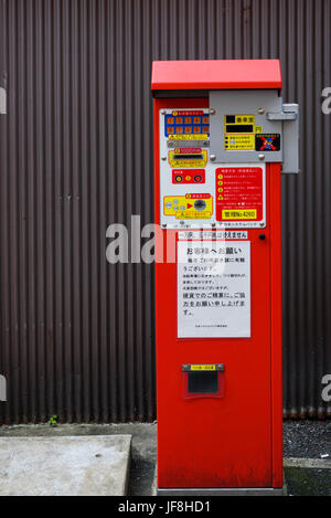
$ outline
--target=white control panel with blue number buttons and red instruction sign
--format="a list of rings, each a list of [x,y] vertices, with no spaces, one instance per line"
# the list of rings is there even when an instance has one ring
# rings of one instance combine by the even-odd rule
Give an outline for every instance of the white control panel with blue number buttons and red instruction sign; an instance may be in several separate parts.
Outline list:
[[[229,138],[226,144],[229,147],[236,139],[234,150],[224,151],[226,160],[216,163],[214,158],[211,160],[209,108],[160,109],[160,219],[163,229],[227,230],[266,225],[266,165],[260,160],[233,163],[229,158],[234,152],[255,156],[255,133],[263,128],[255,127],[254,114],[229,117],[236,124],[227,124],[232,137],[224,138]],[[247,137],[249,150],[237,150],[238,142],[246,142],[242,129],[246,129],[247,120],[253,131]],[[239,131],[235,137],[234,129]]]

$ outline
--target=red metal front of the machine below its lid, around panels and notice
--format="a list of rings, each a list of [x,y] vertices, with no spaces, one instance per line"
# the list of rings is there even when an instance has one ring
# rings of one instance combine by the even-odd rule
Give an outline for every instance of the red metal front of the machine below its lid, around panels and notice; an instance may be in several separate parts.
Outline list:
[[[206,107],[207,99],[154,102],[157,222],[160,221],[158,110],[180,106]],[[281,487],[279,167],[267,167],[266,172],[267,228],[248,231],[252,338],[178,339],[177,265],[157,264],[160,488]],[[265,240],[259,239],[261,232]],[[163,241],[166,234],[170,239],[175,232],[163,231]],[[273,308],[271,297],[275,297]],[[270,337],[275,339],[273,345]],[[225,363],[225,398],[185,400],[182,363],[218,362]]]

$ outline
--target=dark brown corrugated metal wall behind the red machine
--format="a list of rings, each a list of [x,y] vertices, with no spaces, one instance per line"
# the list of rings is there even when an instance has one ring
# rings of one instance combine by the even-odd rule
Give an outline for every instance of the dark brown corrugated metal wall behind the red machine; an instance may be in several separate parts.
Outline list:
[[[285,414],[330,415],[329,0],[0,0],[0,423],[153,420],[153,267],[106,262],[152,221],[152,60],[280,57],[301,105],[284,188]]]

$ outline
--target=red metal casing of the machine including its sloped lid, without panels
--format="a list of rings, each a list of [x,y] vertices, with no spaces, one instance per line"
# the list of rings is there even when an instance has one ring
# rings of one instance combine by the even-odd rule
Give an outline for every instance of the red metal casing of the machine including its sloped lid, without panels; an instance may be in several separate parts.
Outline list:
[[[209,96],[201,97],[203,89],[280,87],[279,62],[274,60],[157,62],[153,65],[152,89],[157,95],[158,92],[163,93],[154,98],[156,223],[161,224],[164,221],[164,172],[161,171],[164,157],[160,156],[162,110],[212,108]],[[178,96],[173,91],[179,91]],[[191,91],[190,96],[182,91]],[[206,148],[206,152],[210,163],[211,150]],[[226,162],[215,163],[211,171],[205,169],[203,177],[207,180],[217,168],[226,166]],[[258,161],[254,160],[252,167],[254,166],[258,167]],[[173,182],[173,169],[180,168],[169,166],[170,182]],[[204,170],[201,166],[196,169]],[[190,171],[192,173],[192,166]],[[168,172],[166,171],[167,175]],[[236,232],[243,230],[246,234],[244,241],[249,242],[250,250],[249,337],[179,337],[178,319],[181,316],[178,310],[178,262],[161,261],[161,257],[167,250],[166,242],[172,242],[172,247],[178,250],[181,230],[163,224],[157,240],[160,494],[162,490],[175,493],[175,489],[282,487],[280,172],[280,162],[265,165],[265,224],[249,228],[249,222],[245,221],[242,228],[239,220],[235,223]],[[191,188],[191,183],[188,180],[188,184],[181,189]],[[193,188],[193,194],[201,190],[201,186]],[[211,218],[214,218],[217,189],[216,194],[213,192],[212,195],[215,199]],[[188,228],[185,224],[185,229]],[[196,225],[194,228],[199,229]],[[213,223],[210,231],[217,232],[218,228],[222,225]],[[239,243],[228,234],[226,246],[231,246],[232,242]],[[194,246],[194,234],[191,244]],[[218,389],[222,388],[222,394],[188,397],[183,366],[220,363],[224,366],[224,371],[218,373],[222,380]]]

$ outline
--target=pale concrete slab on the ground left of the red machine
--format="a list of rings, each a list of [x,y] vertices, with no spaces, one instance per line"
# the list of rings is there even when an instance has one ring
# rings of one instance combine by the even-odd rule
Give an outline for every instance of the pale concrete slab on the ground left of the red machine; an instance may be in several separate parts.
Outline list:
[[[0,496],[126,495],[131,435],[0,437]]]

